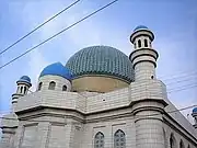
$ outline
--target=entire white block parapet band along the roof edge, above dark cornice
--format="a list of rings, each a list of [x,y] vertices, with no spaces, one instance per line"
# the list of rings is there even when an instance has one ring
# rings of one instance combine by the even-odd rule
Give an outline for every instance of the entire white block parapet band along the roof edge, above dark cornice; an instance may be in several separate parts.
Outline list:
[[[129,96],[130,95],[130,96]],[[84,96],[77,92],[59,92],[59,91],[38,91],[26,96],[20,98],[16,111],[22,111],[38,105],[47,105],[61,109],[73,109],[82,113],[92,113],[103,110],[116,109],[129,105],[132,101],[149,99],[164,99],[170,105],[165,111],[176,110],[175,106],[166,99],[165,87],[160,81],[140,81],[132,82],[130,88],[97,94],[93,96]],[[196,134],[194,127],[178,112],[170,114],[175,121],[185,127],[193,135]]]

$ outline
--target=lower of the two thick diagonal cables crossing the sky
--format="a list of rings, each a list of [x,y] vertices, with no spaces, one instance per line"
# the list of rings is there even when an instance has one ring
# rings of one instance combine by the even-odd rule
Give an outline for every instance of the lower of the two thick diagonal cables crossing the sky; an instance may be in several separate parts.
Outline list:
[[[40,45],[47,43],[48,41],[55,38],[56,36],[60,35],[61,33],[63,33],[65,31],[71,29],[71,27],[73,27],[73,26],[76,26],[76,25],[79,24],[80,22],[82,22],[82,21],[89,19],[90,16],[96,14],[97,12],[102,11],[103,9],[105,9],[105,8],[109,7],[109,5],[112,5],[113,3],[117,2],[117,1],[118,1],[118,0],[114,0],[114,1],[109,2],[108,4],[106,4],[106,5],[104,5],[104,7],[100,8],[100,9],[97,9],[96,11],[94,11],[94,12],[92,12],[91,14],[84,16],[83,19],[81,19],[81,20],[79,20],[78,22],[71,24],[70,26],[68,26],[68,27],[61,30],[60,32],[58,32],[58,33],[56,33],[55,35],[50,36],[49,38],[45,39],[44,42],[37,44],[36,46],[34,46],[34,47],[32,47],[31,49],[26,50],[25,53],[21,54],[20,56],[13,58],[13,59],[10,60],[9,62],[2,65],[2,66],[0,67],[0,69],[2,69],[3,67],[10,65],[11,62],[15,61],[16,59],[23,57],[24,55],[26,55],[26,54],[28,54],[30,52],[34,50],[35,48],[39,47]]]

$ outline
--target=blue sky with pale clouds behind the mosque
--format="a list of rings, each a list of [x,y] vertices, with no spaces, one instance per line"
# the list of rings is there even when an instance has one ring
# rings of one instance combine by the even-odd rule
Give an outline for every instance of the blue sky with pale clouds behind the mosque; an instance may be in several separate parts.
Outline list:
[[[0,55],[0,66],[35,46],[58,31],[111,0],[81,0],[73,8],[46,24],[33,35]],[[72,0],[1,0],[0,50],[28,33]],[[78,24],[31,54],[0,69],[0,113],[11,109],[15,81],[31,77],[35,90],[44,67],[60,61],[91,45],[113,46],[126,55],[132,50],[129,36],[134,29],[147,25],[155,35],[159,52],[157,76],[167,86],[169,99],[176,107],[197,104],[197,1],[196,0],[119,0],[96,15]],[[196,72],[196,73],[195,73]],[[186,90],[183,90],[186,86]],[[190,87],[190,88],[189,88]],[[190,113],[186,110],[184,114]],[[189,118],[192,121],[192,117]]]

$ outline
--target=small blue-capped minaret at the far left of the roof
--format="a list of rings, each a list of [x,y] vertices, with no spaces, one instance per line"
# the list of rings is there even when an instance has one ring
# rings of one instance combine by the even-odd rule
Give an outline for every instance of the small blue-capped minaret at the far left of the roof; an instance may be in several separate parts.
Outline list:
[[[12,109],[15,110],[18,99],[27,94],[28,89],[32,87],[31,79],[28,76],[23,76],[16,81],[18,90],[12,94]]]

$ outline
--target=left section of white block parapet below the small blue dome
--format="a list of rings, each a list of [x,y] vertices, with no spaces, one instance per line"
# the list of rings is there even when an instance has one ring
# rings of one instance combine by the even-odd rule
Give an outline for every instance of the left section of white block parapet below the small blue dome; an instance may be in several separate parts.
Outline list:
[[[85,112],[85,99],[77,92],[43,90],[22,96],[18,101],[15,112],[39,105],[72,109]]]

